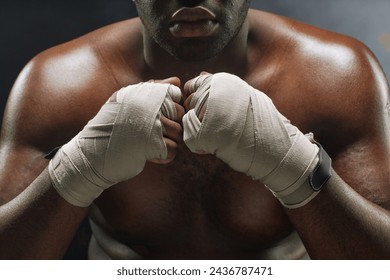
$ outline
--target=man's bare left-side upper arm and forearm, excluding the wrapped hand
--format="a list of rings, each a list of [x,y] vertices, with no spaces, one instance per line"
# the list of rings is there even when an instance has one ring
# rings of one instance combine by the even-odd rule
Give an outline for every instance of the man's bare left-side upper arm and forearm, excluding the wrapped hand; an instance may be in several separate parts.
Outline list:
[[[44,93],[26,67],[10,95],[0,142],[0,259],[62,258],[87,208],[74,207],[52,188],[49,141],[56,125]],[[61,129],[59,127],[59,129]],[[57,131],[58,133],[58,131]],[[52,134],[55,135],[55,134]]]

